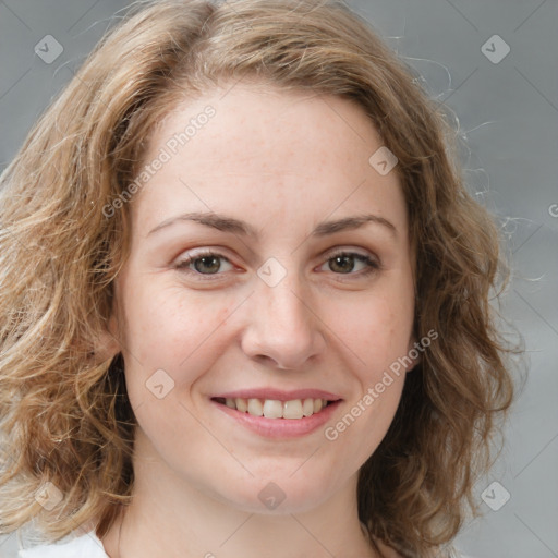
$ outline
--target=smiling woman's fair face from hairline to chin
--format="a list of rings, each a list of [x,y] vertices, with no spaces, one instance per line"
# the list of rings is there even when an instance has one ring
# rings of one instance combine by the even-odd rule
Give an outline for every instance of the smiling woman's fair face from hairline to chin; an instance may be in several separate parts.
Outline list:
[[[381,145],[348,100],[241,85],[156,130],[111,323],[138,454],[178,483],[281,513],[355,486],[412,347],[405,203],[385,151],[369,161]]]

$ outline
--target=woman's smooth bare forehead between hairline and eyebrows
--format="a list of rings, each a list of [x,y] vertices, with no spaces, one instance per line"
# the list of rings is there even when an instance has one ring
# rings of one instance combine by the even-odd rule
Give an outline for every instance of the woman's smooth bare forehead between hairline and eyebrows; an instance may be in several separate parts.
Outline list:
[[[180,102],[155,129],[144,163],[165,162],[135,211],[156,226],[178,206],[257,209],[268,218],[288,211],[294,220],[372,204],[366,208],[404,221],[397,173],[371,165],[381,146],[356,102],[274,87],[216,89]]]

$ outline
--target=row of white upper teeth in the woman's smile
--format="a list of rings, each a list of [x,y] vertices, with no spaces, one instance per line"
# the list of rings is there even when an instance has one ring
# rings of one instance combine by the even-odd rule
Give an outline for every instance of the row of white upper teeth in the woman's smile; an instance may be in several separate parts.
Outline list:
[[[254,416],[296,420],[319,413],[327,405],[327,400],[310,398],[278,401],[277,399],[227,398],[225,404],[231,409],[236,409],[241,413],[247,412]]]

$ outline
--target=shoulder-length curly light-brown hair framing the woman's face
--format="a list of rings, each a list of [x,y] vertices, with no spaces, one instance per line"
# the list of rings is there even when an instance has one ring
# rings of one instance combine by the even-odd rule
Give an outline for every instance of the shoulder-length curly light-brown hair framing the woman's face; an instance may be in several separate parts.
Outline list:
[[[490,299],[498,229],[468,193],[444,107],[369,24],[335,0],[134,4],[31,131],[0,179],[0,531],[51,539],[131,501],[135,417],[123,361],[96,351],[130,246],[130,204],[154,125],[185,96],[240,80],[351,99],[396,155],[415,255],[416,339],[362,466],[359,515],[403,556],[450,542],[493,461],[514,386]],[[104,207],[112,204],[113,215]],[[63,494],[53,509],[45,483]]]

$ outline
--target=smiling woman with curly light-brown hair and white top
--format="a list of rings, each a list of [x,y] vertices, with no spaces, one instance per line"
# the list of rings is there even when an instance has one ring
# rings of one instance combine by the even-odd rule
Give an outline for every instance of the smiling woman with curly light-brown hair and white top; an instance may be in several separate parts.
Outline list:
[[[341,3],[113,29],[2,175],[21,556],[451,556],[512,385],[450,136]]]

